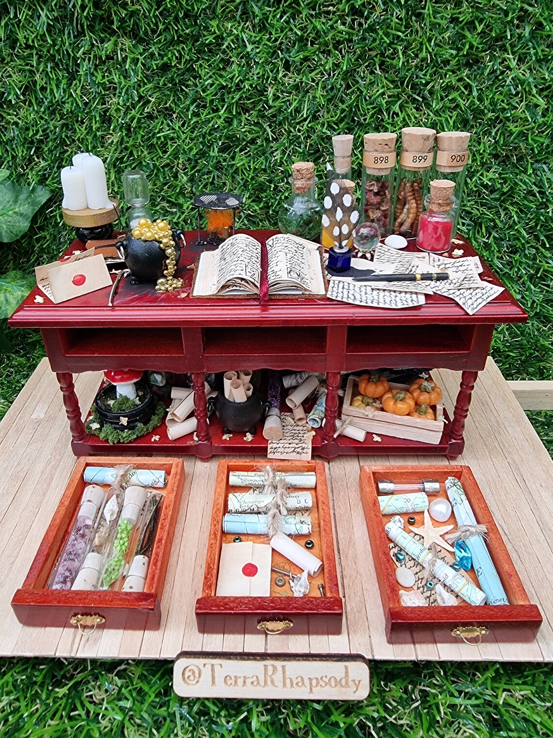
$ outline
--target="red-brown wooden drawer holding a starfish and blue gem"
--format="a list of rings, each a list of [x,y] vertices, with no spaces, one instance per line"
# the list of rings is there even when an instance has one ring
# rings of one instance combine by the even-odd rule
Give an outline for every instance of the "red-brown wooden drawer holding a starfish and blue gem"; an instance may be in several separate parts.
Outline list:
[[[400,587],[395,578],[395,566],[389,549],[390,540],[384,531],[384,525],[392,515],[380,513],[377,482],[383,479],[395,483],[416,482],[423,478],[437,479],[441,484],[441,491],[439,495],[432,495],[431,499],[438,496],[448,499],[444,492],[444,483],[448,477],[456,477],[461,481],[477,523],[487,525],[487,548],[507,593],[508,605],[462,603],[450,607],[404,607],[401,604]],[[534,640],[542,622],[540,610],[529,601],[490,509],[468,466],[361,466],[360,485],[389,643],[404,641],[406,634],[415,636],[418,643],[453,641],[459,638],[459,635],[453,635],[456,629],[473,627],[486,628],[496,641]],[[407,517],[407,514],[403,515],[405,521]],[[422,525],[422,512],[415,513],[414,517],[417,521],[414,525]],[[448,524],[456,525],[453,512],[447,523],[437,523],[437,526]],[[408,531],[407,524],[405,529]],[[442,549],[439,549],[439,555],[442,556]],[[468,575],[478,584],[473,569]],[[467,636],[469,633],[467,630],[459,632]],[[481,637],[485,640],[485,635]]]

